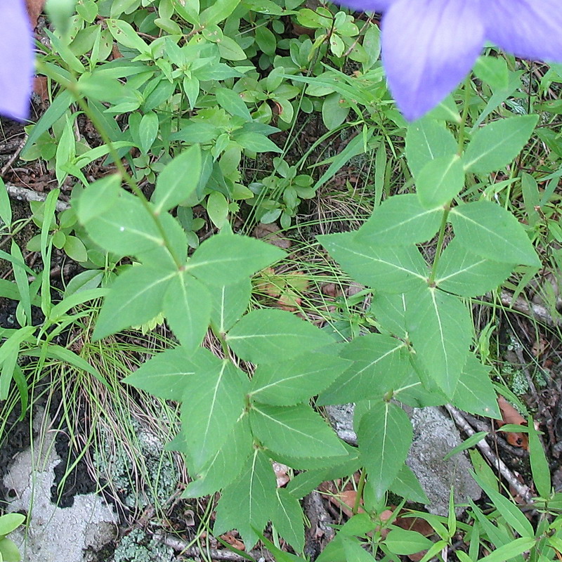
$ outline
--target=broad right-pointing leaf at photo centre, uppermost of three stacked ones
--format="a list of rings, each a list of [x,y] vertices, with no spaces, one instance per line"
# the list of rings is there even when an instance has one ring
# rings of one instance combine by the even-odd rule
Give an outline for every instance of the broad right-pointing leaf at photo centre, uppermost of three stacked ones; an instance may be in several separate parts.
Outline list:
[[[226,334],[226,342],[241,359],[268,363],[295,358],[334,340],[292,313],[262,308],[243,316]]]

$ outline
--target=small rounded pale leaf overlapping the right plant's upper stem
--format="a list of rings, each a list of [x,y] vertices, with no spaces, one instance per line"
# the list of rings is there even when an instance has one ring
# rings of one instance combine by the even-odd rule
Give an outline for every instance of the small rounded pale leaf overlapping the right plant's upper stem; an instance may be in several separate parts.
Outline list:
[[[464,187],[464,169],[458,155],[430,160],[416,178],[417,197],[422,207],[432,209],[459,195]]]

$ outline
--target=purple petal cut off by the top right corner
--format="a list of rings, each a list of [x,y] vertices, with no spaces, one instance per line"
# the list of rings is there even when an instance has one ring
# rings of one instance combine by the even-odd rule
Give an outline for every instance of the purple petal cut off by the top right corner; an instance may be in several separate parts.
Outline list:
[[[483,0],[485,37],[521,58],[562,63],[560,0]]]

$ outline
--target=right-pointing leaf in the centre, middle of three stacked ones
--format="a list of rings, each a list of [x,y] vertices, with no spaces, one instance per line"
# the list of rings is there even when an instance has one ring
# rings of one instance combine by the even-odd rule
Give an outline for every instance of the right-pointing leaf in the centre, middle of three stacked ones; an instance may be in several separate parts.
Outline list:
[[[322,351],[303,353],[295,362],[263,363],[251,377],[249,396],[265,404],[292,406],[325,390],[348,365]]]

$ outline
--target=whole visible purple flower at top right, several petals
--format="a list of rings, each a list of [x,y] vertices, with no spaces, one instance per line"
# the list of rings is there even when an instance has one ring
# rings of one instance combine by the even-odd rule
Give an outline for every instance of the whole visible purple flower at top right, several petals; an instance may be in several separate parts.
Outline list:
[[[485,40],[521,58],[562,62],[560,0],[336,1],[383,13],[388,87],[410,121],[455,89]]]

